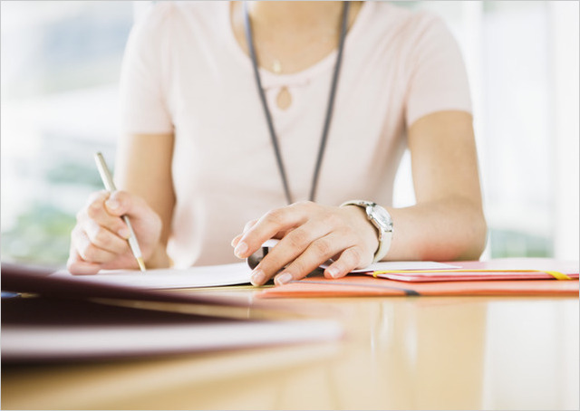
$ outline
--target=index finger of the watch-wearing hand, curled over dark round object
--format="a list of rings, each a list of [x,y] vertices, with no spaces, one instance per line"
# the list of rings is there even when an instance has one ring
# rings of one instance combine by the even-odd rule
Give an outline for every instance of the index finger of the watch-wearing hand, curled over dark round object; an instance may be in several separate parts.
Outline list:
[[[234,253],[238,258],[247,258],[255,253],[266,240],[275,237],[281,231],[289,230],[297,225],[303,225],[307,220],[307,210],[304,206],[286,206],[270,210],[262,216],[236,245]]]

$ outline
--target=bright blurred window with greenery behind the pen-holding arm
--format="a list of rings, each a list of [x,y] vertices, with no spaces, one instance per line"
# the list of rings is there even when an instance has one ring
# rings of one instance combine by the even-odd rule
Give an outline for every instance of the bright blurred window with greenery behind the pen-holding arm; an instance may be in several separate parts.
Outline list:
[[[114,157],[132,2],[2,2],[2,259],[63,264]]]

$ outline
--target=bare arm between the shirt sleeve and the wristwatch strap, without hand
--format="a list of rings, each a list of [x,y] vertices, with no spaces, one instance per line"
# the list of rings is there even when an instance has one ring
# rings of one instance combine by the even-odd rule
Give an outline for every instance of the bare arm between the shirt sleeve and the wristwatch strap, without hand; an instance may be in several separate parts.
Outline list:
[[[477,260],[487,226],[481,205],[471,115],[439,111],[408,133],[417,204],[389,209],[395,231],[389,260]]]

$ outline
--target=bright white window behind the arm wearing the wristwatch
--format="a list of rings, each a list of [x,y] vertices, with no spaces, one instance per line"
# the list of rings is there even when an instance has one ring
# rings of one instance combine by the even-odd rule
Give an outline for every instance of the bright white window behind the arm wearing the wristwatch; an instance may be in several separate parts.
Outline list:
[[[489,225],[485,256],[577,260],[578,2],[405,5],[440,14],[464,55]],[[404,204],[408,178],[397,179]]]

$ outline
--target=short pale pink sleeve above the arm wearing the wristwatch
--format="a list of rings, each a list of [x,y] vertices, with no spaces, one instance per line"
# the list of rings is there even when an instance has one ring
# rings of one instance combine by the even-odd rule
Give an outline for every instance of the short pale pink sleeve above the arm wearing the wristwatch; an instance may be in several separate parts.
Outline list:
[[[440,110],[471,112],[469,81],[459,45],[447,26],[425,14],[410,54],[407,126]]]

